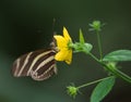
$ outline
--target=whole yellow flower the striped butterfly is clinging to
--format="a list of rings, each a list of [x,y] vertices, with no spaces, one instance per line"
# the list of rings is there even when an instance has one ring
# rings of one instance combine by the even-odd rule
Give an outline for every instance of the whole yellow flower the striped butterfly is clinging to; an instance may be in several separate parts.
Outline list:
[[[72,42],[72,39],[63,27],[63,36],[55,35],[53,36],[57,41],[58,53],[55,55],[57,61],[66,61],[66,63],[70,64],[72,61],[72,49],[69,48],[69,43]]]

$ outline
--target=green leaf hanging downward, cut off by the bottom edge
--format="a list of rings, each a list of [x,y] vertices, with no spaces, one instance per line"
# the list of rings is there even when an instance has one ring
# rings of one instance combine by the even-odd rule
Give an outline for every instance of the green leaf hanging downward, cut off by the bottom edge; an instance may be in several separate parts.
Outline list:
[[[115,77],[109,77],[100,81],[93,90],[91,102],[100,102],[112,89],[115,85]]]

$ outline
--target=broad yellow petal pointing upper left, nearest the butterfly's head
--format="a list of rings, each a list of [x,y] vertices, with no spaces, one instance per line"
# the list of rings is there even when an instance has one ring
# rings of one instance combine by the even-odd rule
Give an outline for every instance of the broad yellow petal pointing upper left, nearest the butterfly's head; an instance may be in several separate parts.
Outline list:
[[[57,47],[59,50],[67,47],[67,41],[62,36],[53,36],[53,37],[57,40]]]

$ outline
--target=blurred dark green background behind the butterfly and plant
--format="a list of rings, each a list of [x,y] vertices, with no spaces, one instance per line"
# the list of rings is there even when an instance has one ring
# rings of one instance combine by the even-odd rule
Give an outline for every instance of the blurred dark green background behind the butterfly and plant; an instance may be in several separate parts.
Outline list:
[[[56,22],[53,23],[53,18]],[[79,39],[82,28],[87,42],[98,55],[96,35],[88,31],[88,23],[99,20],[103,28],[104,54],[131,49],[130,0],[1,0],[0,1],[0,102],[88,102],[95,86],[81,89],[75,100],[66,93],[70,82],[76,86],[106,76],[91,58],[74,54],[71,65],[57,63],[58,75],[45,81],[14,78],[13,61],[21,54],[47,48],[53,31],[62,34],[66,26],[71,37]],[[130,62],[120,63],[131,76]],[[130,102],[131,86],[120,79],[103,102]]]

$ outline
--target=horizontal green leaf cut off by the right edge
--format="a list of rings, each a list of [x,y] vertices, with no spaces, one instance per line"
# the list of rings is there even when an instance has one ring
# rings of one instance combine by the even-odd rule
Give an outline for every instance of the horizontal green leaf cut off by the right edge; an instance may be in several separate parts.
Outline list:
[[[117,50],[105,55],[103,61],[131,61],[131,50]]]

